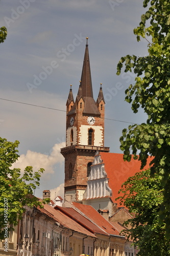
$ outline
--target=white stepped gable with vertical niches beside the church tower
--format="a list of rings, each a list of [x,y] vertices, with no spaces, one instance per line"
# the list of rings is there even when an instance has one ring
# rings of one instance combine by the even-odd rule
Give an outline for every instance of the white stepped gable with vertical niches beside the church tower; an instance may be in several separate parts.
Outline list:
[[[109,179],[105,172],[105,164],[103,163],[99,152],[96,152],[94,161],[91,165],[91,172],[87,181],[87,189],[84,199],[100,198],[112,196],[112,190],[108,184]]]

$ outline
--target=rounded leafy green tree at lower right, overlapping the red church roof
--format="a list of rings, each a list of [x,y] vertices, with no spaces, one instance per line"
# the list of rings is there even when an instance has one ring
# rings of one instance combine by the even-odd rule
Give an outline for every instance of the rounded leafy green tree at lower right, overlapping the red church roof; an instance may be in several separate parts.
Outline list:
[[[135,214],[125,222],[131,225],[123,234],[133,240],[141,256],[170,255],[169,240],[165,238],[165,224],[159,223],[159,210],[163,193],[158,175],[150,176],[150,169],[130,177],[120,190],[121,202]]]

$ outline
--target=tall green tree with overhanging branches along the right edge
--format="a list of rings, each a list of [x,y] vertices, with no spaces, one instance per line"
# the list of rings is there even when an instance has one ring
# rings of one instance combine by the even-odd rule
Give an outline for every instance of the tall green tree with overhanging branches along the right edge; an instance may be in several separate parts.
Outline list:
[[[148,10],[134,33],[138,41],[149,38],[148,56],[122,57],[117,75],[123,66],[125,72],[134,71],[135,84],[126,90],[126,101],[132,103],[134,113],[143,108],[148,119],[123,130],[120,148],[125,160],[130,161],[132,153],[141,161],[141,168],[149,155],[153,156],[151,175],[157,173],[164,187],[160,218],[166,222],[166,236],[170,238],[170,2],[145,0],[143,7]]]

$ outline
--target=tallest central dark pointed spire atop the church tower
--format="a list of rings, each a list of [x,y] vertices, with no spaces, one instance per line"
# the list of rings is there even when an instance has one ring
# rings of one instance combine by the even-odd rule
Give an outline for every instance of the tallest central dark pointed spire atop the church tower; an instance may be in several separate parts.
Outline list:
[[[88,37],[86,37],[86,39],[88,40]],[[84,62],[83,62],[83,69],[82,69],[80,85],[82,87],[82,96],[93,98],[91,72],[90,72],[90,60],[89,60],[88,44],[87,43],[86,43],[86,49],[85,49],[85,54],[84,54]]]

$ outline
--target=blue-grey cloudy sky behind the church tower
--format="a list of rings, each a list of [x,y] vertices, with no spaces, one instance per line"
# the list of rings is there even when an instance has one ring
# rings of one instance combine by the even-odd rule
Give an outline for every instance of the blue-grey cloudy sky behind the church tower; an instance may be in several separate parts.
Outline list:
[[[134,74],[116,76],[120,57],[147,54],[147,41],[137,42],[133,34],[145,11],[142,2],[0,0],[0,27],[8,29],[0,45],[1,137],[20,141],[15,167],[45,169],[36,196],[43,189],[63,196],[65,103],[70,84],[75,97],[78,92],[87,36],[94,99],[103,83],[106,101],[105,146],[122,153],[119,137],[127,122],[145,120],[142,111],[133,114],[125,102]]]

